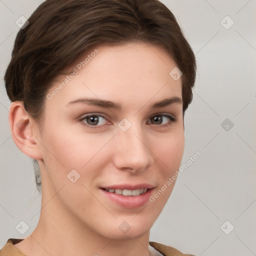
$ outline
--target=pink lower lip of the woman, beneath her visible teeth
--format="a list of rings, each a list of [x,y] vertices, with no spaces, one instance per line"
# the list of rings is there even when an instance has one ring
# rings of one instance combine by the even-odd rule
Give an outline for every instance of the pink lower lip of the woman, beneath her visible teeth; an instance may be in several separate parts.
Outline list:
[[[100,190],[111,201],[128,209],[138,208],[144,205],[146,202],[149,201],[149,197],[152,193],[152,188],[147,189],[145,193],[142,193],[140,195],[122,195],[122,194],[107,192],[102,188],[100,188]]]

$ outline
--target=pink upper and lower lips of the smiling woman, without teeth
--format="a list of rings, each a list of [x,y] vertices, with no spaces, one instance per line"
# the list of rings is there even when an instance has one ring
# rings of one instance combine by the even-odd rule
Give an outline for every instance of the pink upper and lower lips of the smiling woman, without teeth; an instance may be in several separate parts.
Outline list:
[[[146,202],[148,202],[150,195],[152,194],[152,188],[154,186],[148,183],[140,183],[140,184],[119,184],[119,185],[112,185],[112,186],[105,186],[101,187],[100,191],[103,193],[104,196],[106,196],[111,202],[114,202],[115,204],[128,208],[128,209],[134,209],[137,207],[140,207],[144,205]],[[136,190],[139,188],[147,188],[147,191],[145,193],[139,194],[139,195],[122,195],[117,194],[114,192],[108,192],[105,189],[127,189],[127,190]]]

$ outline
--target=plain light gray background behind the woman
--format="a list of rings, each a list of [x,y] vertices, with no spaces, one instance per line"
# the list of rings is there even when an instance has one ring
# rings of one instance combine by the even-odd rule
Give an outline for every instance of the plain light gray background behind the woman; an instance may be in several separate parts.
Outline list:
[[[28,18],[41,2],[0,0],[0,248],[10,237],[28,236],[39,219],[32,160],[11,138],[2,77],[19,29],[15,21]],[[184,30],[198,65],[182,163],[197,150],[201,156],[178,177],[150,240],[195,255],[256,255],[256,0],[162,2]],[[228,29],[227,15],[234,21]],[[226,118],[229,124],[222,126],[228,130],[221,126]],[[29,226],[24,234],[15,228],[21,220]]]

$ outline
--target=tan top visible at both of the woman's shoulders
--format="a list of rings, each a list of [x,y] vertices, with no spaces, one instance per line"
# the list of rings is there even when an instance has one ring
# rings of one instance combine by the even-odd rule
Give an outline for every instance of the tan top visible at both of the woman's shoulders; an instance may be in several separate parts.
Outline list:
[[[0,256],[26,256],[13,245],[15,243],[21,242],[22,240],[23,239],[20,238],[9,238],[6,244],[0,249]],[[161,252],[164,256],[194,256],[192,254],[183,254],[171,246],[166,246],[158,242],[149,241],[149,244]]]

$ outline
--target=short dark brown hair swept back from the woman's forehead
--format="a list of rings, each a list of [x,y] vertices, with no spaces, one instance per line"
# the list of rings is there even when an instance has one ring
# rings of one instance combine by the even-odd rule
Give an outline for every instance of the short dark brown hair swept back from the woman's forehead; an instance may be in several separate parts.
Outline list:
[[[46,0],[17,33],[4,75],[11,101],[38,124],[53,78],[92,46],[132,41],[164,48],[182,72],[183,115],[192,100],[196,63],[172,12],[158,0]]]

